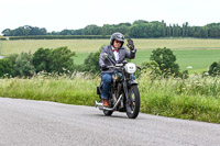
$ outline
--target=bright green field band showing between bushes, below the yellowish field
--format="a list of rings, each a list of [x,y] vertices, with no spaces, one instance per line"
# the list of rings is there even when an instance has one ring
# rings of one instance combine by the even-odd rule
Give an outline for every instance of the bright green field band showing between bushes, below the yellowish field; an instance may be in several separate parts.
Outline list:
[[[132,61],[136,65],[141,65],[143,61],[148,61],[152,49],[139,50],[135,59]],[[189,70],[189,74],[202,72],[208,70],[208,66],[213,61],[220,60],[220,49],[174,49],[176,55],[176,63],[179,65],[180,70]],[[88,53],[78,53],[75,57],[76,64],[84,64],[84,59],[88,56]],[[191,69],[187,67],[191,66]]]

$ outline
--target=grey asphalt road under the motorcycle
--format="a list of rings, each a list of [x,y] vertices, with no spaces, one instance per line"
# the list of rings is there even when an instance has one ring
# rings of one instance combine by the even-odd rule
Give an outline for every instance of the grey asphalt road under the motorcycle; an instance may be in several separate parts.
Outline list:
[[[0,98],[0,146],[220,146],[220,124]]]

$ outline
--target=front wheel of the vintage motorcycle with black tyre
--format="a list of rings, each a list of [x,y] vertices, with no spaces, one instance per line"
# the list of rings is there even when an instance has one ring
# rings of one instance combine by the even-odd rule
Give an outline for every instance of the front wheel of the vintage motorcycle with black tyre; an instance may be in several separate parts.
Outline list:
[[[129,101],[125,103],[127,115],[129,119],[135,119],[140,112],[140,93],[136,85],[131,87],[129,96]]]

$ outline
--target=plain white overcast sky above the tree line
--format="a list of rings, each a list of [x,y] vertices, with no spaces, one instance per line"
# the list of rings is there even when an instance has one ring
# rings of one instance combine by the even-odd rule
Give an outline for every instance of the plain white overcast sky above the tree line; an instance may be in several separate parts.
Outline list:
[[[23,25],[52,32],[135,20],[202,26],[220,22],[219,5],[220,0],[0,0],[0,33]]]

